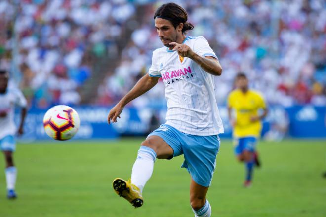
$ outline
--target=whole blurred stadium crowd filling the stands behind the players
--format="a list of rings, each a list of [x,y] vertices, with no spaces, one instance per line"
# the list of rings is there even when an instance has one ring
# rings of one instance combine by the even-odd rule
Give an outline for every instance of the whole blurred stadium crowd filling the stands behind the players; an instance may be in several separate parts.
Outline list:
[[[92,74],[93,56],[117,49],[125,23],[134,30],[125,41],[117,67],[97,88],[96,103],[117,102],[149,69],[161,47],[154,28],[155,9],[166,1],[150,0],[2,0],[1,65],[8,66],[15,47],[23,74],[21,87],[32,105],[79,104],[80,89]],[[225,104],[238,72],[270,104],[326,105],[326,6],[323,0],[177,0],[189,13],[194,30],[219,57],[223,74],[216,77],[216,96]],[[142,8],[142,10],[139,10]],[[142,14],[139,14],[142,13]],[[141,16],[136,16],[136,15]],[[10,24],[10,20],[16,22]],[[130,23],[130,22],[129,22]],[[15,31],[17,37],[10,34]],[[16,46],[18,45],[18,46]],[[96,63],[95,63],[96,64]],[[165,104],[164,84],[133,102]]]

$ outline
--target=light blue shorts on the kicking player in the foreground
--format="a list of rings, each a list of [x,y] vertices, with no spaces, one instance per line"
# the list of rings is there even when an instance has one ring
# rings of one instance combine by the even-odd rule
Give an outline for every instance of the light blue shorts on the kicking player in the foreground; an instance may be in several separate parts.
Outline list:
[[[196,136],[182,133],[174,127],[162,124],[148,136],[159,136],[171,146],[172,157],[184,155],[184,167],[192,179],[204,187],[210,186],[216,166],[216,155],[220,148],[218,135]]]

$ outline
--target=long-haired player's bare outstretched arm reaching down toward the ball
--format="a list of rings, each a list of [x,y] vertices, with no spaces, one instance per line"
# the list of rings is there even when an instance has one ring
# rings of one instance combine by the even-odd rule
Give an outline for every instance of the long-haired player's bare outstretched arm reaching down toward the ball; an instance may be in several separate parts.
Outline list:
[[[115,107],[113,107],[108,115],[108,123],[117,122],[117,117],[120,118],[120,114],[124,108],[124,106],[136,99],[137,97],[143,95],[152,87],[154,87],[159,81],[159,77],[152,77],[149,74],[144,75],[139,81],[135,84],[135,86],[117,103]]]

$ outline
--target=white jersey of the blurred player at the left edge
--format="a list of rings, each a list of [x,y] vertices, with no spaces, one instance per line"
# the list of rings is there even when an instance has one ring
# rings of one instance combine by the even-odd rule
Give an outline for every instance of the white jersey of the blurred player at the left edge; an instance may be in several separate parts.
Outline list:
[[[0,117],[0,139],[7,135],[16,134],[14,122],[15,105],[26,107],[27,102],[22,92],[17,88],[8,88],[4,94],[0,93],[0,112],[6,112],[6,117]]]

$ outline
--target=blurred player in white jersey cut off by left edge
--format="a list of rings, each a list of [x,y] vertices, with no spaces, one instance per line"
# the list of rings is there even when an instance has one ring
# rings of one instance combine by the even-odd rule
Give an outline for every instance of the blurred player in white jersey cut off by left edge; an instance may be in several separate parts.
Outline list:
[[[0,148],[6,161],[5,176],[7,181],[7,197],[14,199],[17,197],[15,184],[17,169],[13,162],[13,152],[15,151],[14,135],[16,126],[14,123],[14,107],[22,107],[21,120],[18,128],[18,135],[23,134],[23,125],[27,112],[27,102],[22,92],[16,88],[8,88],[9,73],[0,70]]]

